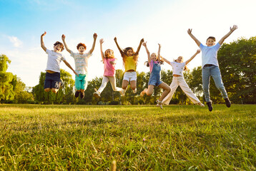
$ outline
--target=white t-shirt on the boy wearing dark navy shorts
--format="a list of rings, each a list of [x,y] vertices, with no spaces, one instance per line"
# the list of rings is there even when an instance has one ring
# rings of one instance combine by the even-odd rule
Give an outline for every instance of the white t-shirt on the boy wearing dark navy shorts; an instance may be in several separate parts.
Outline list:
[[[45,51],[48,54],[46,70],[54,71],[60,73],[59,65],[61,61],[66,61],[64,56],[61,53],[51,51],[46,49]]]

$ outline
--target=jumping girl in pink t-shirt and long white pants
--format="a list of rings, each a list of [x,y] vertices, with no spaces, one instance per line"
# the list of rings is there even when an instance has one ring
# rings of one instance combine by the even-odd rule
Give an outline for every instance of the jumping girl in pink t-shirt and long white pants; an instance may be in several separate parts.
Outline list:
[[[104,88],[107,86],[107,83],[110,81],[111,86],[114,91],[119,91],[121,94],[124,93],[124,90],[122,88],[119,88],[116,86],[116,60],[117,58],[114,58],[114,51],[111,49],[107,49],[105,53],[102,51],[102,43],[104,42],[103,38],[99,40],[100,43],[100,51],[102,54],[102,61],[104,63],[104,75],[102,78],[102,86],[100,86],[99,90],[94,88],[94,97],[100,98],[100,93],[104,90]]]

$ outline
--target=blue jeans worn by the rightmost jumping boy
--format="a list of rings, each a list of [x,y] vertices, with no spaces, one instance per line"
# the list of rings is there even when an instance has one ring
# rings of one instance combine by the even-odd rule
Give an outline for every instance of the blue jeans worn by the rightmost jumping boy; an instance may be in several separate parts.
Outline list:
[[[220,74],[220,68],[218,66],[207,66],[202,68],[202,88],[204,89],[205,101],[210,102],[210,76],[212,76],[215,81],[215,86],[220,93],[222,98],[227,98],[227,91],[222,82],[222,76]]]

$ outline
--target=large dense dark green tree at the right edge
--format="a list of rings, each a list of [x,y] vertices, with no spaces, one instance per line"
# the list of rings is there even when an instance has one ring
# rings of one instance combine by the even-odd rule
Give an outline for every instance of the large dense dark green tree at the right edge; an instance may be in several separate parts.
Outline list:
[[[256,103],[256,37],[224,43],[218,61],[230,100]]]

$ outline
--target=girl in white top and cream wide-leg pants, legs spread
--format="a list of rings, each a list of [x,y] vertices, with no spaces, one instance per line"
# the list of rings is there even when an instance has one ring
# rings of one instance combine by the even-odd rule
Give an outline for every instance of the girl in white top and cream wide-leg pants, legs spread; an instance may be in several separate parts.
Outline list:
[[[179,56],[179,58],[177,58],[177,60],[175,60],[174,62],[169,62],[166,58],[163,58],[166,63],[169,63],[169,65],[172,66],[172,72],[173,72],[172,83],[169,86],[171,88],[171,91],[164,98],[164,100],[162,100],[162,103],[164,105],[169,105],[170,100],[172,100],[172,95],[174,94],[177,87],[180,86],[180,88],[182,88],[184,93],[187,95],[187,97],[189,97],[190,100],[192,100],[193,103],[200,105],[202,107],[205,107],[205,105],[200,102],[197,96],[189,88],[186,81],[184,81],[184,76],[183,76],[183,71],[187,70],[187,66],[186,66],[187,63],[192,61],[192,59],[195,58],[195,56],[197,56],[198,53],[200,53],[200,49],[197,50],[197,52],[191,58],[189,58],[189,60],[187,60],[186,62],[183,62],[182,56]]]

